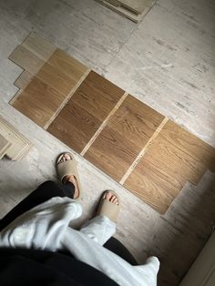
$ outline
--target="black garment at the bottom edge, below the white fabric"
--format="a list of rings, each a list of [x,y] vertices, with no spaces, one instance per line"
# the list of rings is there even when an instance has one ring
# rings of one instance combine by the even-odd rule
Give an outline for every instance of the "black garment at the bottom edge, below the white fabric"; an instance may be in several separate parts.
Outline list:
[[[1,286],[117,286],[102,272],[67,255],[45,250],[0,249]]]

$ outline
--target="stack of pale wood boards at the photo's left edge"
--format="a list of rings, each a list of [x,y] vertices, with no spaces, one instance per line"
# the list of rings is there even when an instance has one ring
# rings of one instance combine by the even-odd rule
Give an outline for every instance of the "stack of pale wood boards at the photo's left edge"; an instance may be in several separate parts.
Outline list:
[[[21,133],[0,117],[0,158],[6,156],[12,160],[20,160],[26,156],[31,146]]]

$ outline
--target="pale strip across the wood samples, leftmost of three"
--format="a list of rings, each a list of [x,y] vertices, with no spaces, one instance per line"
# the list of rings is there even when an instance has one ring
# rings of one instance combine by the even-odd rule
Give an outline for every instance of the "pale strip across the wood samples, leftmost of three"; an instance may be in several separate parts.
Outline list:
[[[82,82],[86,79],[87,75],[89,74],[89,72],[91,71],[90,68],[87,69],[87,71],[84,73],[84,75],[82,77],[80,77],[80,79],[78,80],[77,84],[75,87],[72,88],[72,90],[69,92],[68,96],[65,98],[65,100],[62,102],[62,104],[60,105],[60,107],[58,107],[58,109],[56,110],[56,113],[50,117],[50,119],[46,122],[46,125],[44,126],[45,130],[47,128],[49,128],[49,126],[52,124],[52,122],[56,119],[56,117],[58,116],[58,114],[60,113],[60,111],[67,105],[67,102],[70,100],[70,98],[74,95],[74,93],[77,91],[77,88],[80,87],[80,85],[82,84]]]

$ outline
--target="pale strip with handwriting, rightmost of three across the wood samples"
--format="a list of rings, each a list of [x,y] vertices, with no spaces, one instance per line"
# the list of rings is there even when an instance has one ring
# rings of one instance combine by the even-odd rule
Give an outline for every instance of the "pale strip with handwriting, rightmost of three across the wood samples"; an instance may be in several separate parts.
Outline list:
[[[140,159],[144,157],[144,155],[146,154],[149,146],[152,144],[154,139],[159,136],[160,131],[162,130],[162,128],[164,128],[165,124],[168,121],[169,121],[169,118],[168,117],[164,117],[162,122],[159,124],[159,127],[155,130],[155,132],[153,133],[151,138],[149,138],[147,144],[144,146],[144,148],[141,149],[141,151],[138,153],[138,156],[135,158],[133,163],[130,165],[130,167],[128,168],[128,170],[125,173],[125,175],[122,177],[122,179],[120,179],[119,184],[123,185],[125,183],[125,181],[128,179],[128,177],[130,176],[130,174],[133,171],[133,169],[136,168],[136,166],[138,165],[138,162],[140,161]]]

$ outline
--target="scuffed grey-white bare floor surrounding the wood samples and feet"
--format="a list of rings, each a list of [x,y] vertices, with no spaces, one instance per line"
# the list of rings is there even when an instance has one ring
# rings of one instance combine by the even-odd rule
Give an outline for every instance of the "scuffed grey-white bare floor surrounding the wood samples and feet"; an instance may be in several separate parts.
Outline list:
[[[19,162],[0,161],[0,214],[46,179],[56,181],[58,153],[70,150],[8,103],[22,69],[8,60],[30,32],[215,147],[214,13],[211,1],[158,1],[134,25],[95,1],[0,1],[0,112],[34,148]],[[87,220],[104,189],[122,200],[116,237],[144,262],[161,261],[159,285],[178,285],[215,220],[214,175],[186,183],[164,216],[77,156]],[[79,224],[81,221],[78,221]]]

